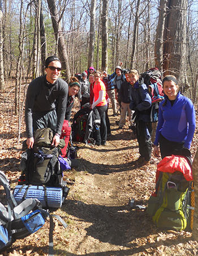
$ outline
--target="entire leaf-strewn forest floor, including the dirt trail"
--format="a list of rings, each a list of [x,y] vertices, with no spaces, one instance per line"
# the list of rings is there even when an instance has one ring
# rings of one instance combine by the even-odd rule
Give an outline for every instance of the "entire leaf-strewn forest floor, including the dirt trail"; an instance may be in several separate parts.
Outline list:
[[[20,170],[21,143],[25,140],[24,121],[18,145],[18,118],[12,115],[11,93],[0,97],[0,169],[10,180],[12,190]],[[12,95],[12,96],[11,96]],[[78,104],[72,115],[78,111]],[[197,255],[198,244],[191,232],[175,232],[156,228],[145,209],[132,209],[131,199],[147,205],[154,190],[156,166],[154,158],[149,166],[137,165],[137,140],[129,123],[124,129],[115,124],[119,116],[109,109],[111,136],[106,146],[78,143],[79,166],[64,171],[70,192],[61,208],[50,212],[60,215],[68,224],[66,229],[54,219],[55,255]],[[197,148],[197,129],[191,153]],[[2,188],[2,187],[1,187]],[[0,200],[3,198],[3,190]],[[17,240],[2,255],[48,255],[49,223],[23,240]]]

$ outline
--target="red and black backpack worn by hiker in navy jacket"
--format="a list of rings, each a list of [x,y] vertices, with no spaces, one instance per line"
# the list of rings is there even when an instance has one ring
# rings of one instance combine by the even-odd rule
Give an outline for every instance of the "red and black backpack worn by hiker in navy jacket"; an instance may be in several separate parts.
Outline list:
[[[152,123],[158,121],[158,109],[160,102],[164,99],[162,88],[162,72],[157,68],[149,69],[147,72],[140,74],[144,78],[144,83],[147,85],[152,106],[150,110],[150,121]]]

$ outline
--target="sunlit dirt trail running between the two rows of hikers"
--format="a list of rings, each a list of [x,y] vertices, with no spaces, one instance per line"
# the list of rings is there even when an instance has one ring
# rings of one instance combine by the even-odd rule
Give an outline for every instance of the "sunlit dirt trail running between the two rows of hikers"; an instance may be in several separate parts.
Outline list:
[[[106,146],[80,144],[78,173],[63,207],[74,220],[67,255],[139,254],[153,229],[145,212],[129,204],[131,198],[148,199],[151,187],[143,189],[142,181],[151,175],[153,185],[153,166],[136,170],[135,137],[130,129],[117,130],[118,119],[110,117],[112,135]]]

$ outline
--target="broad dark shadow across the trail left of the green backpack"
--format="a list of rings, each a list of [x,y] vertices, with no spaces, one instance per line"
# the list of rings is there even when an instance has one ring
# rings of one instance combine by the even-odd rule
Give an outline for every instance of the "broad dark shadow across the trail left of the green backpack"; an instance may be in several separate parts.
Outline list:
[[[66,200],[63,211],[92,223],[85,228],[87,236],[113,245],[135,247],[137,237],[149,236],[154,224],[144,211],[131,210],[129,205],[105,206]]]

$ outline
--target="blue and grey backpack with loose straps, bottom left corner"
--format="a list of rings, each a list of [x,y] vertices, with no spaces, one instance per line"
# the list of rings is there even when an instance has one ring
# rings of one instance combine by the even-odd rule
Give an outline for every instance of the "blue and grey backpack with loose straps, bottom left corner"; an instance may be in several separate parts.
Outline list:
[[[26,199],[17,204],[10,191],[10,185],[5,173],[0,171],[0,184],[6,192],[6,203],[0,203],[0,251],[6,250],[16,240],[23,239],[35,233],[44,224],[46,217],[50,217],[49,232],[49,255],[53,255],[53,219],[58,220],[67,227],[67,224],[57,215],[50,215],[48,211],[41,208],[41,203],[37,199]]]

